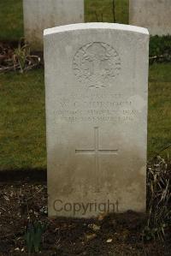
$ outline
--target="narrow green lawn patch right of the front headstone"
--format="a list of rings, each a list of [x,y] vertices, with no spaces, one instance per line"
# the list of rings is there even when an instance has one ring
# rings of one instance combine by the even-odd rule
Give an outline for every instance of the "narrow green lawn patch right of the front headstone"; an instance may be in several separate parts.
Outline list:
[[[171,144],[171,63],[150,66],[148,117],[148,156],[151,158],[154,152]],[[171,150],[165,155],[168,152]]]

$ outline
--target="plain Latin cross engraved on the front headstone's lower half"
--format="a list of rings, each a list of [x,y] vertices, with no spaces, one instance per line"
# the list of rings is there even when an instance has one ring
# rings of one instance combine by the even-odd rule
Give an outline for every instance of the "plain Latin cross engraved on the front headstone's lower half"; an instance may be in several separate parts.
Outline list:
[[[99,131],[94,128],[94,149],[76,149],[76,154],[93,154],[95,156],[96,173],[99,171],[99,155],[116,155],[118,149],[99,149]]]

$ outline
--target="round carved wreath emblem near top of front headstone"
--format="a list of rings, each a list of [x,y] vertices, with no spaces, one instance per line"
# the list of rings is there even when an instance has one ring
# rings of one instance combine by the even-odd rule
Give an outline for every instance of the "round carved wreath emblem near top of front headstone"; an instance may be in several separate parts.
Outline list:
[[[112,46],[93,42],[76,52],[73,69],[80,83],[102,88],[112,83],[120,73],[121,59]]]

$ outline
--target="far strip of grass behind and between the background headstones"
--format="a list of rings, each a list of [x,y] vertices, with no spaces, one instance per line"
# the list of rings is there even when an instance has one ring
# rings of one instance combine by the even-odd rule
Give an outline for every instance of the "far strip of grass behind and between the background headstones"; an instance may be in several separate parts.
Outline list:
[[[34,1],[34,0],[30,0]],[[47,0],[48,1],[48,0]],[[129,0],[115,0],[115,18],[128,23]],[[113,22],[112,0],[85,0],[85,21]],[[22,0],[0,0],[0,40],[18,41],[24,36]]]

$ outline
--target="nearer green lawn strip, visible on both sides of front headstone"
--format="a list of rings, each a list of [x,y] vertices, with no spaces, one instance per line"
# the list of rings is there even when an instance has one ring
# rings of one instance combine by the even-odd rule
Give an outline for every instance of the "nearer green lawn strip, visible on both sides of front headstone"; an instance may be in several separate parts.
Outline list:
[[[150,66],[148,158],[171,143],[171,65]],[[0,170],[46,169],[44,70],[0,74]],[[168,154],[171,148],[161,154]]]

